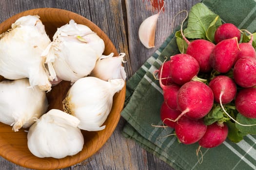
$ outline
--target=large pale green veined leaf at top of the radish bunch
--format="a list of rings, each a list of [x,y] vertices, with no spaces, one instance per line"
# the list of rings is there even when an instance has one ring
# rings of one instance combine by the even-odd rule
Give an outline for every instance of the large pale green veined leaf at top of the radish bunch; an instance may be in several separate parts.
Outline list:
[[[216,17],[217,15],[205,5],[197,3],[189,12],[188,26],[184,30],[184,34],[192,39],[207,39],[206,31]]]

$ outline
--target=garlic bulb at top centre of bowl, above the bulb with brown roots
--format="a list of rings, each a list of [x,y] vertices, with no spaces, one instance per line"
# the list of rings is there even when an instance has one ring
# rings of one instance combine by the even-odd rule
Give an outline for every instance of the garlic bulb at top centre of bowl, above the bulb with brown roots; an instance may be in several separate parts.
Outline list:
[[[104,49],[104,41],[89,27],[70,20],[57,30],[42,56],[53,79],[75,82],[91,73]]]

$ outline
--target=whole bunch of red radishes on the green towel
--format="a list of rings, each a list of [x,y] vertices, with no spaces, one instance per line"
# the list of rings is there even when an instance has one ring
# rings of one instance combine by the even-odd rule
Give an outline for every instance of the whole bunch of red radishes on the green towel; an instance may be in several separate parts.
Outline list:
[[[215,32],[215,43],[205,39],[189,41],[186,53],[171,56],[158,70],[164,102],[160,109],[163,123],[175,129],[183,144],[198,142],[200,147],[213,148],[228,136],[225,121],[206,125],[204,118],[214,105],[235,103],[235,109],[248,119],[256,118],[256,51],[253,35],[247,43],[239,43],[241,33],[235,25],[225,23]],[[200,77],[199,75],[204,75]],[[203,79],[204,78],[204,79]]]

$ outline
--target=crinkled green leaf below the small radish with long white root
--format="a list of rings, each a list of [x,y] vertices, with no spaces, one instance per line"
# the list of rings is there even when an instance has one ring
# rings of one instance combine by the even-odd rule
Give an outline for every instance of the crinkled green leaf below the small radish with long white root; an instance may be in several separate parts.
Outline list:
[[[229,119],[230,118],[227,117],[221,106],[219,104],[214,104],[212,110],[204,117],[204,123],[210,125],[216,121],[225,122]]]

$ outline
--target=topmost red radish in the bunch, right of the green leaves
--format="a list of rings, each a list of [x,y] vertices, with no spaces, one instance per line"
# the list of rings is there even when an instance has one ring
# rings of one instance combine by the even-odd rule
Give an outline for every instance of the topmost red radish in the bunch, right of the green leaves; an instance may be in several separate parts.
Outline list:
[[[231,24],[231,23],[224,23],[220,25],[214,34],[214,39],[216,43],[219,43],[224,39],[229,39],[233,37],[237,37],[237,40],[239,42],[241,38],[241,34],[239,29],[234,24]]]

